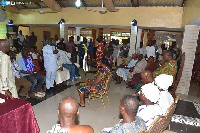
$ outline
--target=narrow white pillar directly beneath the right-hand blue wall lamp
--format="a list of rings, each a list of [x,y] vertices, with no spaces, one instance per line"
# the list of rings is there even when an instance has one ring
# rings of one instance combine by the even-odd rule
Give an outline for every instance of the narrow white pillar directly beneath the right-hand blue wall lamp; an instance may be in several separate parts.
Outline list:
[[[137,26],[131,25],[129,56],[132,56],[132,54],[135,53],[136,37],[137,37]]]

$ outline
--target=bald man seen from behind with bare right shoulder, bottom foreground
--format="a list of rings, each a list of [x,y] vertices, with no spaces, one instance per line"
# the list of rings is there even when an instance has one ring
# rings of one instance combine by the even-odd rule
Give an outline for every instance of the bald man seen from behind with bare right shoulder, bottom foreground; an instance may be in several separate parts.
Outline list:
[[[66,97],[61,100],[57,115],[60,124],[52,127],[47,133],[94,133],[89,125],[76,125],[76,116],[79,114],[78,102],[73,97]]]

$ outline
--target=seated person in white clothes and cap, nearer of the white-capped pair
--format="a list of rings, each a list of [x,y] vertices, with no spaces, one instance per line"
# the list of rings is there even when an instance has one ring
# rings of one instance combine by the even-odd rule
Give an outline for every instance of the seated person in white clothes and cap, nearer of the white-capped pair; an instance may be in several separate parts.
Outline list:
[[[156,118],[163,115],[160,106],[155,104],[160,98],[159,93],[158,87],[152,83],[142,86],[140,100],[143,102],[143,105],[139,106],[137,116],[145,121],[147,127]]]

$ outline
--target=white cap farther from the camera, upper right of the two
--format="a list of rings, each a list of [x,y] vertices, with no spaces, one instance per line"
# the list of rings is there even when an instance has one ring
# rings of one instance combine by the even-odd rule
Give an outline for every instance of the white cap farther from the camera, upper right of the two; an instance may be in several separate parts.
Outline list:
[[[167,91],[168,88],[173,83],[173,76],[167,75],[167,74],[160,74],[154,80],[155,80],[155,84],[158,86],[159,89]]]

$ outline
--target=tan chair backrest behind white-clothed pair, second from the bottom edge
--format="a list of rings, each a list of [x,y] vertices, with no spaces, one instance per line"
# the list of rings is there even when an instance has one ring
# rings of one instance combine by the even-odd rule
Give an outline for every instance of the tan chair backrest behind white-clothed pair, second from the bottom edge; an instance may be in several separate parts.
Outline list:
[[[172,119],[172,116],[174,114],[174,111],[176,109],[176,106],[177,104],[176,103],[173,103],[169,109],[167,110],[167,113],[165,114],[165,118],[166,118],[166,122],[165,122],[165,125],[164,125],[164,128],[166,129],[168,126],[169,126],[169,123]]]

